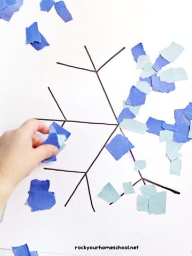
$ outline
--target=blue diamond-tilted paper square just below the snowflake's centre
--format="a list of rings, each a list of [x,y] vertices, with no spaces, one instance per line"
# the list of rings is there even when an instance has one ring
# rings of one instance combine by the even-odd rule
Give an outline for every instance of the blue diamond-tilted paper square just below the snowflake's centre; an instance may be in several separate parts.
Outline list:
[[[106,145],[106,149],[116,160],[120,159],[132,148],[134,148],[132,143],[121,134],[117,134],[109,144]]]

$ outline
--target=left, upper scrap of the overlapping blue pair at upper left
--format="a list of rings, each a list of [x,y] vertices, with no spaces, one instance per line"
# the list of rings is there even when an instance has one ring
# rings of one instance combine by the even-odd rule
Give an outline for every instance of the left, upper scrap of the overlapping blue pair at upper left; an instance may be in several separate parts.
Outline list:
[[[26,44],[34,42],[42,43],[41,33],[38,31],[37,22],[34,22],[26,28]]]

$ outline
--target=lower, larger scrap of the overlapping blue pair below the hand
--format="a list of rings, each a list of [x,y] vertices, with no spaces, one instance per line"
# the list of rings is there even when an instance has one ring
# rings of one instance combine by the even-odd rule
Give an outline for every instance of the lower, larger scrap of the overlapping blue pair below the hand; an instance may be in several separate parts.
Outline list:
[[[28,194],[29,194],[29,198],[27,200],[27,203],[31,207],[32,212],[51,209],[53,205],[55,205],[56,203],[53,192],[29,191]]]

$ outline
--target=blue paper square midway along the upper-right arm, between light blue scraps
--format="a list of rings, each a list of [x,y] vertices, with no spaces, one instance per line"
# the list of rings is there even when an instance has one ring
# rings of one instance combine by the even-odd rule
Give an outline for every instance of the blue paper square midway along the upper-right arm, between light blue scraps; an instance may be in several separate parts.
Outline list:
[[[134,85],[130,89],[129,97],[126,100],[127,105],[131,106],[140,106],[145,104],[146,101],[146,93],[141,92]]]

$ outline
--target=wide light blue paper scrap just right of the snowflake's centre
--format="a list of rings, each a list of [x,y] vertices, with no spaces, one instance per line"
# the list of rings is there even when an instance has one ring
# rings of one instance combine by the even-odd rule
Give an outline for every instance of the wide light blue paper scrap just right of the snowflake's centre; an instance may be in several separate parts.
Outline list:
[[[119,127],[140,134],[145,134],[147,131],[147,125],[135,119],[123,119],[123,122],[119,124]]]

